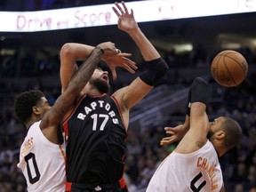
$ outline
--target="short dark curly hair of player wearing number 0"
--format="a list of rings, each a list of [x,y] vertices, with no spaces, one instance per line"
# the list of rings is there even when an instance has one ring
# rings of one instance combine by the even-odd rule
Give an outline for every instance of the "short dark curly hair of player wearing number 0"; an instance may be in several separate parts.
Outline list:
[[[14,111],[15,116],[25,123],[32,116],[33,107],[40,102],[44,97],[44,93],[39,90],[29,90],[28,92],[21,92],[15,99]]]

